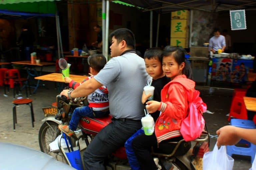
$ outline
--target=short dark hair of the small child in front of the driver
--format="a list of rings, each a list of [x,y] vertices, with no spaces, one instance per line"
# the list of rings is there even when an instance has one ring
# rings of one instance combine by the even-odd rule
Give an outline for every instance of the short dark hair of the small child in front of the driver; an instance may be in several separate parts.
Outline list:
[[[88,64],[92,67],[95,71],[99,72],[107,63],[106,57],[102,54],[93,54],[90,55],[88,58]]]

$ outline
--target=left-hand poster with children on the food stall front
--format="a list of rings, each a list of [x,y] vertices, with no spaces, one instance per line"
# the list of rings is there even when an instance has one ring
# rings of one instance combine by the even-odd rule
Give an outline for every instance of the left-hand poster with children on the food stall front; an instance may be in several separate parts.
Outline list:
[[[229,58],[212,59],[212,80],[230,82],[233,61]]]

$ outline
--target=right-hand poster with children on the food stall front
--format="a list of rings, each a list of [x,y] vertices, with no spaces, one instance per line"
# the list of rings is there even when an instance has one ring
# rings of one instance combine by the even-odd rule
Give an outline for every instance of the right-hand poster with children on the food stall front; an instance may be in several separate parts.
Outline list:
[[[252,60],[233,59],[231,82],[232,83],[245,83],[248,81],[247,74],[249,69],[253,68]]]

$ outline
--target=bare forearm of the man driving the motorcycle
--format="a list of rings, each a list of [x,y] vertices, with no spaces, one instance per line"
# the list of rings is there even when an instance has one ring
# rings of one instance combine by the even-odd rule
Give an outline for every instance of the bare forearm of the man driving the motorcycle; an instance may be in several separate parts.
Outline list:
[[[76,98],[76,97],[84,97],[88,96],[92,92],[94,92],[96,89],[101,87],[102,84],[100,84],[98,81],[96,81],[94,78],[91,78],[84,83],[82,83],[80,86],[78,86],[72,93],[71,97]]]

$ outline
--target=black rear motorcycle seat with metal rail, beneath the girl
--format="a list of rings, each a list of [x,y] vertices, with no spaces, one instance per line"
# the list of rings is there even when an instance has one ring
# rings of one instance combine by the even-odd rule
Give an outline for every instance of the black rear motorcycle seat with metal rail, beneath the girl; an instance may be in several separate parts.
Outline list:
[[[186,142],[181,136],[164,140],[158,146],[152,147],[152,154],[158,156],[184,155],[191,148],[191,142]]]

